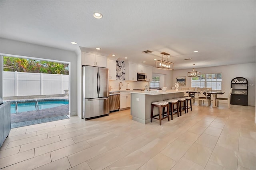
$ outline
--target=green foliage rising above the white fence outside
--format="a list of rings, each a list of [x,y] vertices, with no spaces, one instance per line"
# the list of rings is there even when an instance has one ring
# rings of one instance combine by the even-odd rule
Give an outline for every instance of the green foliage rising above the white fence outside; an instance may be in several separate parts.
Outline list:
[[[4,71],[68,75],[68,64],[4,56]]]

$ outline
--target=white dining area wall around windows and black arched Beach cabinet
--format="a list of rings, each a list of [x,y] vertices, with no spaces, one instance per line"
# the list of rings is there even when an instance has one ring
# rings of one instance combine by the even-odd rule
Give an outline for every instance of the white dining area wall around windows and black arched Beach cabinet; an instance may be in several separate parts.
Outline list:
[[[188,71],[192,69],[174,70],[172,81],[176,82],[176,77],[186,76],[186,87],[191,87],[191,78],[188,76]],[[228,91],[231,88],[231,80],[235,77],[244,77],[248,80],[248,105],[255,106],[255,63],[224,65],[218,67],[196,68],[196,71],[204,73],[222,73],[222,91],[225,92],[222,97],[228,97]],[[182,86],[184,87],[184,86]]]

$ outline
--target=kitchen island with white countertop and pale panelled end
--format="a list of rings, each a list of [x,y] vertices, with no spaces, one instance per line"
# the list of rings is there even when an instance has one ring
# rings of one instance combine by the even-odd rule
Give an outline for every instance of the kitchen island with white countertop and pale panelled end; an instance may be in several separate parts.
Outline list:
[[[132,120],[143,124],[149,123],[152,102],[182,97],[185,91],[186,90],[131,91]],[[154,115],[156,114],[158,114],[158,109],[154,108]]]

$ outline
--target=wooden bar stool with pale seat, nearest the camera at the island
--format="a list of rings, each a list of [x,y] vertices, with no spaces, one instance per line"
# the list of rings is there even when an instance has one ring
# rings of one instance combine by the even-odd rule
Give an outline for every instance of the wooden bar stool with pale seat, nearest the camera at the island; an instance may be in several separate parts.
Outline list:
[[[153,116],[153,111],[154,111],[154,107],[158,107],[159,108],[159,115],[154,115]],[[152,119],[157,119],[160,121],[160,125],[162,124],[162,120],[168,118],[168,122],[170,121],[170,116],[169,114],[167,114],[166,117],[164,117],[164,113],[163,113],[163,117],[161,117],[161,113],[162,113],[162,108],[167,107],[167,112],[169,113],[169,103],[167,101],[157,101],[157,102],[153,102],[151,103],[151,117],[150,117],[150,122],[152,122]],[[158,118],[155,118],[159,116]]]

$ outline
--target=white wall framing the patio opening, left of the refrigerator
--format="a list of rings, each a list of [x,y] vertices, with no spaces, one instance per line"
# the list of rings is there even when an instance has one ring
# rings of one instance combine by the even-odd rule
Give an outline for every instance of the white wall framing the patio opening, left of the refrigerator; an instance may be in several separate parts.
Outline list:
[[[77,79],[80,77],[77,77],[77,55],[74,51],[0,38],[0,53],[70,62],[70,116],[77,115]]]

